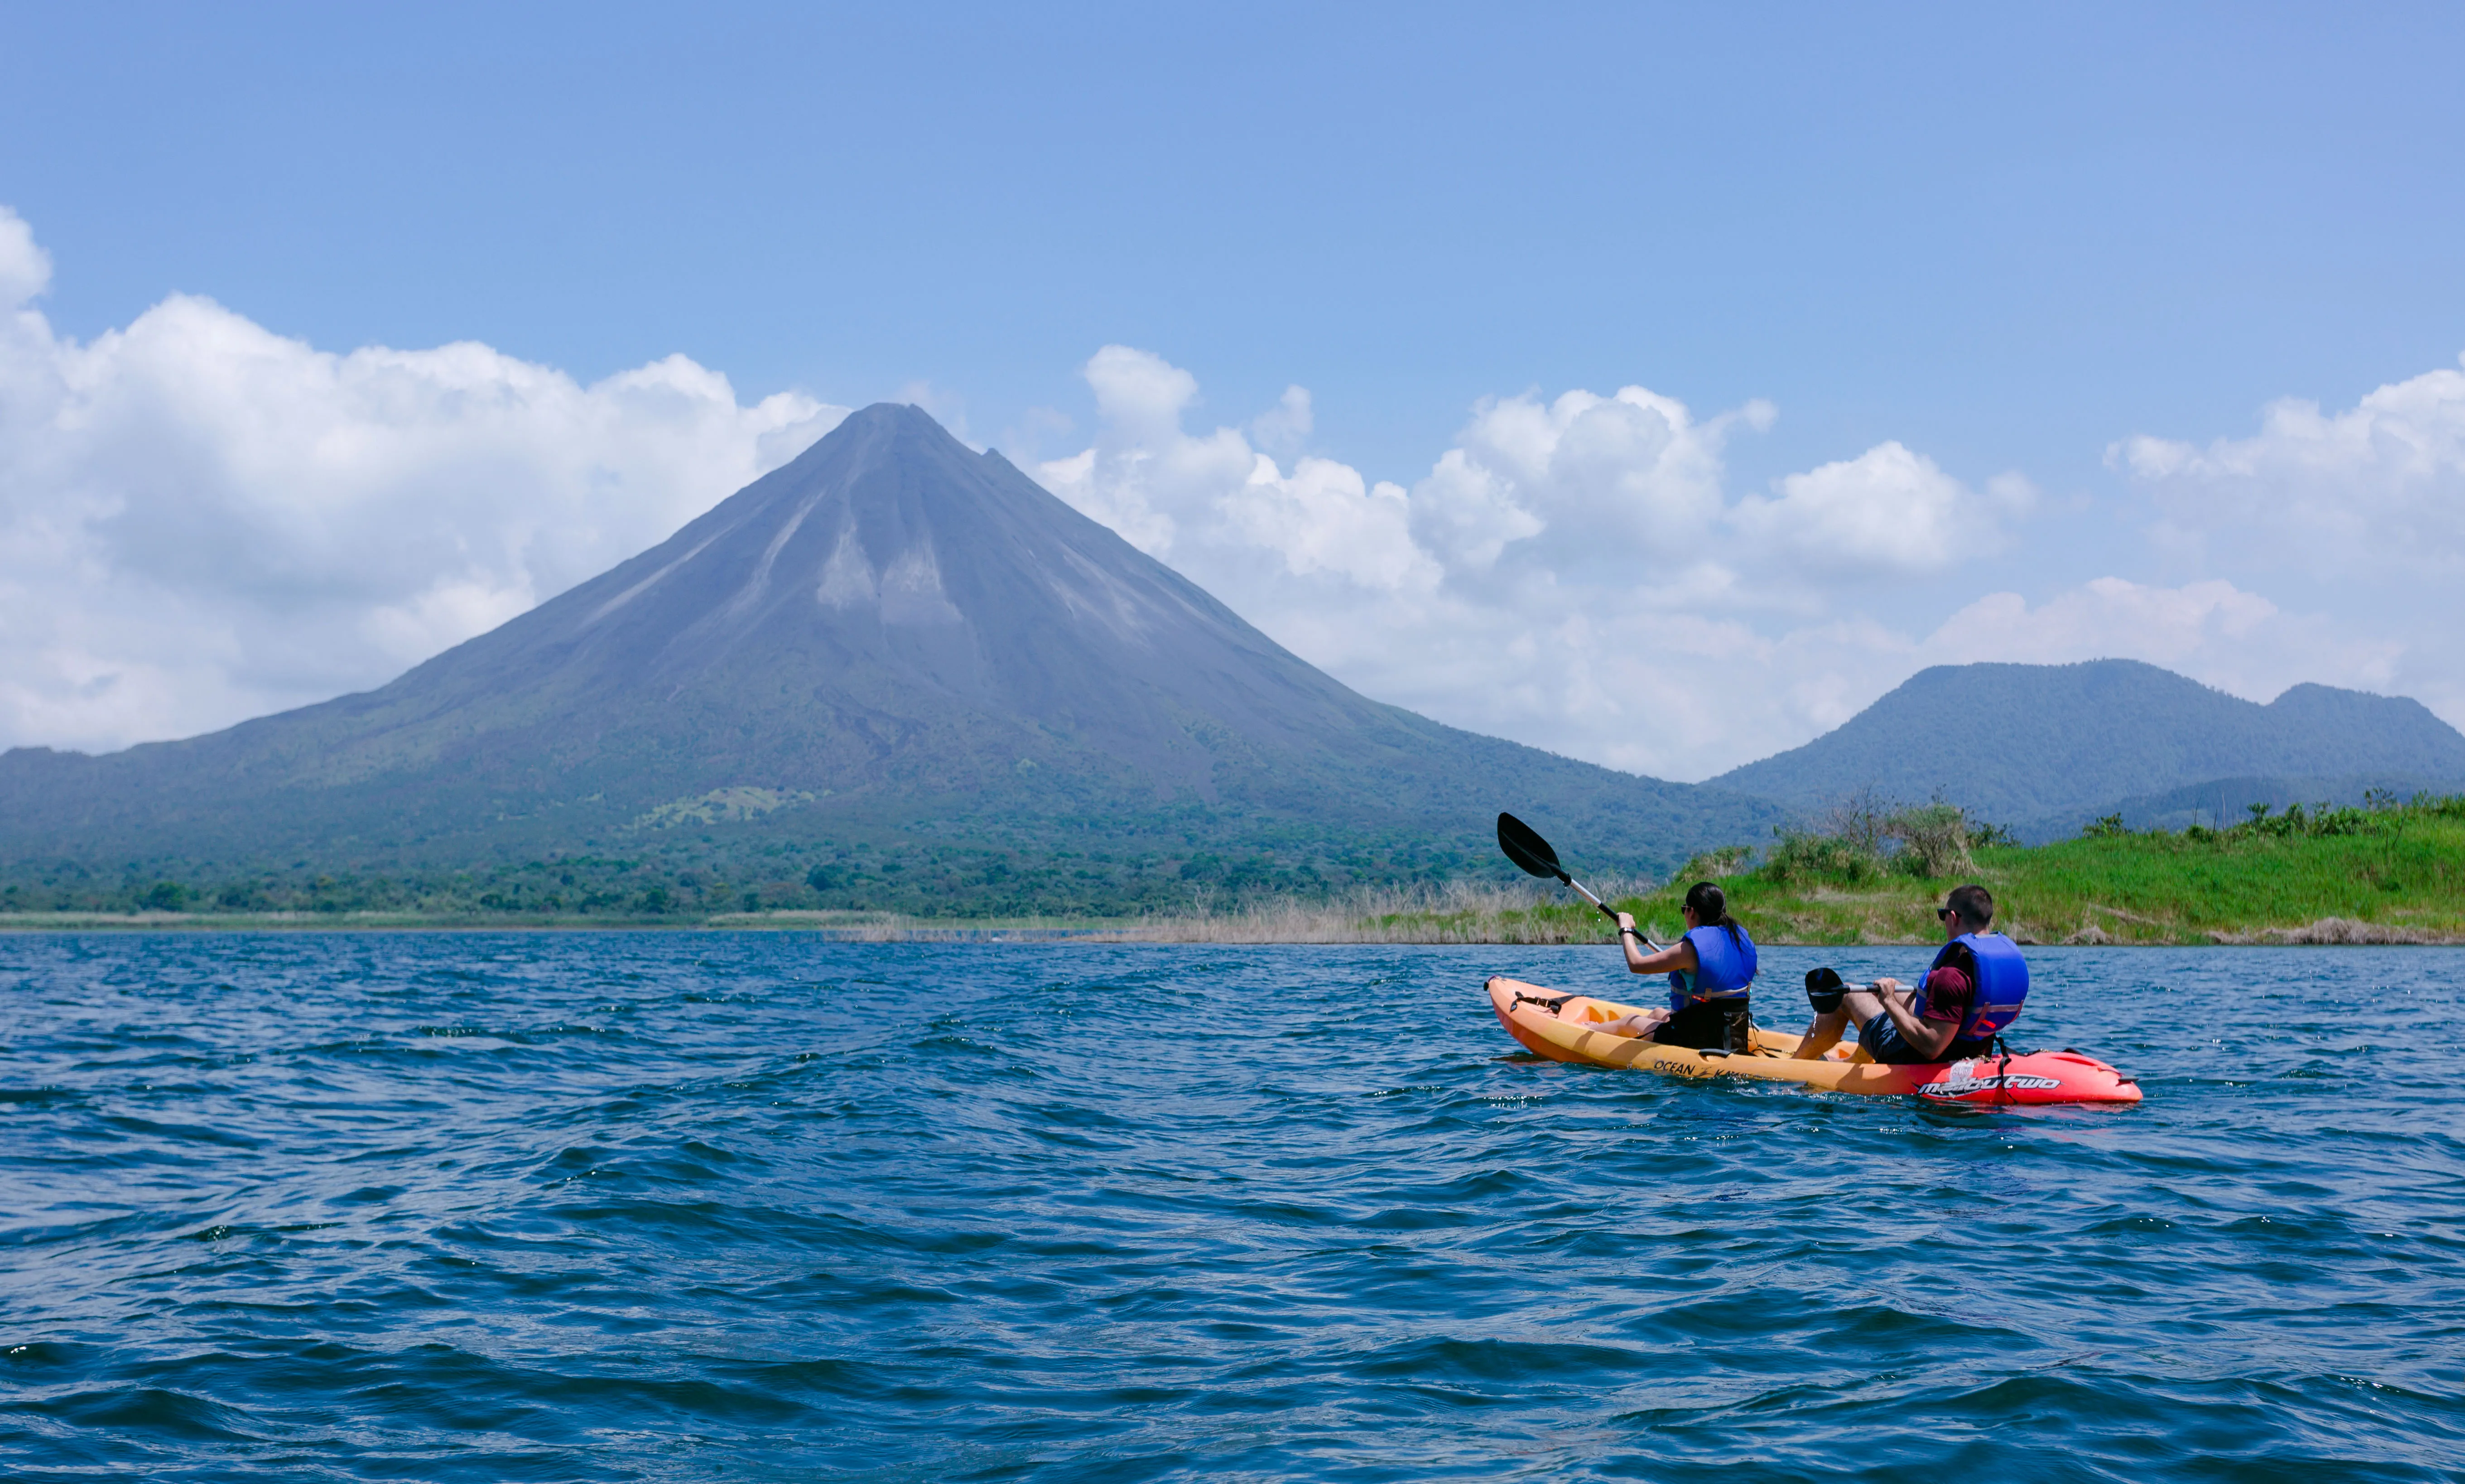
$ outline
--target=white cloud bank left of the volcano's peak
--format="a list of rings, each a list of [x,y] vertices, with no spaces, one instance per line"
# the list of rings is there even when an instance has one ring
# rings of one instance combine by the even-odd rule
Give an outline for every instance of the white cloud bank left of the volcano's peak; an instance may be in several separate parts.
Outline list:
[[[843,409],[680,355],[316,350],[173,296],[76,343],[0,210],[0,744],[118,747],[380,685],[666,537]]]

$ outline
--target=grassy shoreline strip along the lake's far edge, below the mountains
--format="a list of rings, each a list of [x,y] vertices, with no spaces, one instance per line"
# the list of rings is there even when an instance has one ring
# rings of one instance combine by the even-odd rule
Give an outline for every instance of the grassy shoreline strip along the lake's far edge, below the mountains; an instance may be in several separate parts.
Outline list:
[[[1898,831],[1898,836],[1893,833]],[[1905,848],[1893,848],[1905,838]],[[2226,831],[2093,826],[2053,846],[1977,843],[1957,811],[1851,816],[1782,838],[1753,870],[1743,850],[1671,883],[1595,880],[1656,937],[1679,932],[1686,885],[1723,880],[1767,944],[1923,944],[1935,902],[1984,883],[1997,927],[2036,944],[2465,944],[2465,796],[2255,816]],[[1553,885],[1363,887],[1146,917],[915,917],[863,910],[712,915],[525,912],[0,912],[0,932],[813,932],[845,942],[1220,942],[1220,944],[1602,944],[1605,919]]]

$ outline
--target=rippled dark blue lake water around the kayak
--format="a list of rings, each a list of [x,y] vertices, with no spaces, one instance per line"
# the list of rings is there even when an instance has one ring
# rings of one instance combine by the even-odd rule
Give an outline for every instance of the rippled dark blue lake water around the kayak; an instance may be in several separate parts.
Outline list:
[[[2465,954],[2031,956],[2142,1107],[1523,1060],[1587,949],[0,937],[0,1474],[2465,1479]]]

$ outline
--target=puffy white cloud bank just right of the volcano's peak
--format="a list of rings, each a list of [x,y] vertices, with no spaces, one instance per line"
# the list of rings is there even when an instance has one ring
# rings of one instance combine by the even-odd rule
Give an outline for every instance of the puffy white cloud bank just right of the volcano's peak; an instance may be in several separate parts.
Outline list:
[[[1198,380],[1154,353],[1085,375],[1097,441],[1035,471],[1065,500],[1368,695],[1664,777],[1802,742],[1925,663],[1829,594],[1997,547],[2031,500],[1901,444],[1738,500],[1723,449],[1772,407],[1703,419],[1647,387],[1484,399],[1405,488],[1294,454],[1304,389],[1200,431]]]

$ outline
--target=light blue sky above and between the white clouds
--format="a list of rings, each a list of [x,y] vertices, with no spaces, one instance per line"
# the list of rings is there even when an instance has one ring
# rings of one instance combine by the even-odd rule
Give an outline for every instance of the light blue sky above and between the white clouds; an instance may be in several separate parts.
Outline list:
[[[2398,688],[2465,720],[2455,656],[2384,641],[2450,609],[2386,606],[2364,560],[2305,572],[2300,532],[2221,555],[2251,500],[2290,495],[2211,491],[2216,530],[2184,535],[2199,520],[2159,495],[2191,476],[2113,454],[2251,439],[2275,399],[2334,417],[2458,367],[2453,5],[0,15],[0,207],[47,254],[27,303],[57,345],[180,293],[320,353],[476,340],[584,387],[683,355],[747,407],[922,399],[1023,466],[1119,441],[1085,367],[1122,345],[1196,380],[1191,434],[1299,385],[1282,466],[1403,488],[1481,399],[1639,385],[1696,419],[1760,399],[1777,417],[1718,444],[1723,510],[1886,444],[1970,493],[2034,488],[1950,569],[1876,584],[1915,646],[1901,673],[1989,592],[2034,611],[2095,579],[2228,582],[2327,638],[2305,673],[2211,656],[2204,678]],[[2450,476],[2426,495],[2433,545]],[[1639,552],[1632,577],[1671,560]],[[1306,594],[1193,574],[1309,653],[1314,621],[1277,606]],[[1856,616],[1839,574],[1733,577],[1822,587],[1799,629]],[[1506,730],[1449,712],[1435,678],[1309,658]],[[1829,673],[1861,705],[1893,663]],[[1839,705],[1568,749],[1701,774]],[[5,740],[155,735],[143,712],[79,732],[37,710]],[[200,717],[237,720],[155,727]]]

